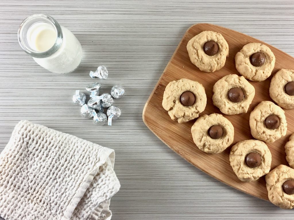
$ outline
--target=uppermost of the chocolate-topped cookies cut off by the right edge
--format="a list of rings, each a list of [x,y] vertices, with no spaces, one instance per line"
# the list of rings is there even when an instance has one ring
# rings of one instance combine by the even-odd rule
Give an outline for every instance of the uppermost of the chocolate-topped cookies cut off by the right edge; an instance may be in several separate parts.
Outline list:
[[[294,70],[280,69],[270,81],[270,97],[282,108],[294,108]]]

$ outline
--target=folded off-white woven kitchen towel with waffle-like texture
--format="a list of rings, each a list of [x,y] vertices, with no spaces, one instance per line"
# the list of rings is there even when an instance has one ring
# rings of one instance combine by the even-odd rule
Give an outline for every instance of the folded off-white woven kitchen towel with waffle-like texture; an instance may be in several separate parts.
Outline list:
[[[0,154],[5,220],[109,220],[118,192],[114,150],[29,121]]]

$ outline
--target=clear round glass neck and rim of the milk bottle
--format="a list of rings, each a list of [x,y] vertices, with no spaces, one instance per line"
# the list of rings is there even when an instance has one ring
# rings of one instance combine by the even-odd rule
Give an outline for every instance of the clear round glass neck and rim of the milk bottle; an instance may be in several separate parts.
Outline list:
[[[46,26],[50,27],[51,30],[54,32],[54,38],[56,37],[53,46],[46,51],[38,51],[36,47],[32,46],[31,39],[29,39],[28,37],[30,36],[30,34],[28,33],[31,31],[32,26],[41,22],[46,23]],[[44,14],[34,14],[26,18],[19,26],[17,36],[21,48],[26,53],[35,58],[45,58],[51,56],[60,48],[63,41],[63,35],[59,23],[54,18]]]

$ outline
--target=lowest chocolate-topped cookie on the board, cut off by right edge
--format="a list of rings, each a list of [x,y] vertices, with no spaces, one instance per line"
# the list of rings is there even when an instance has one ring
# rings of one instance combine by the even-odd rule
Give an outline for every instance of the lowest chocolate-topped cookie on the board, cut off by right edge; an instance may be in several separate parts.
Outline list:
[[[268,199],[282,209],[294,206],[294,169],[279,165],[265,176]]]

